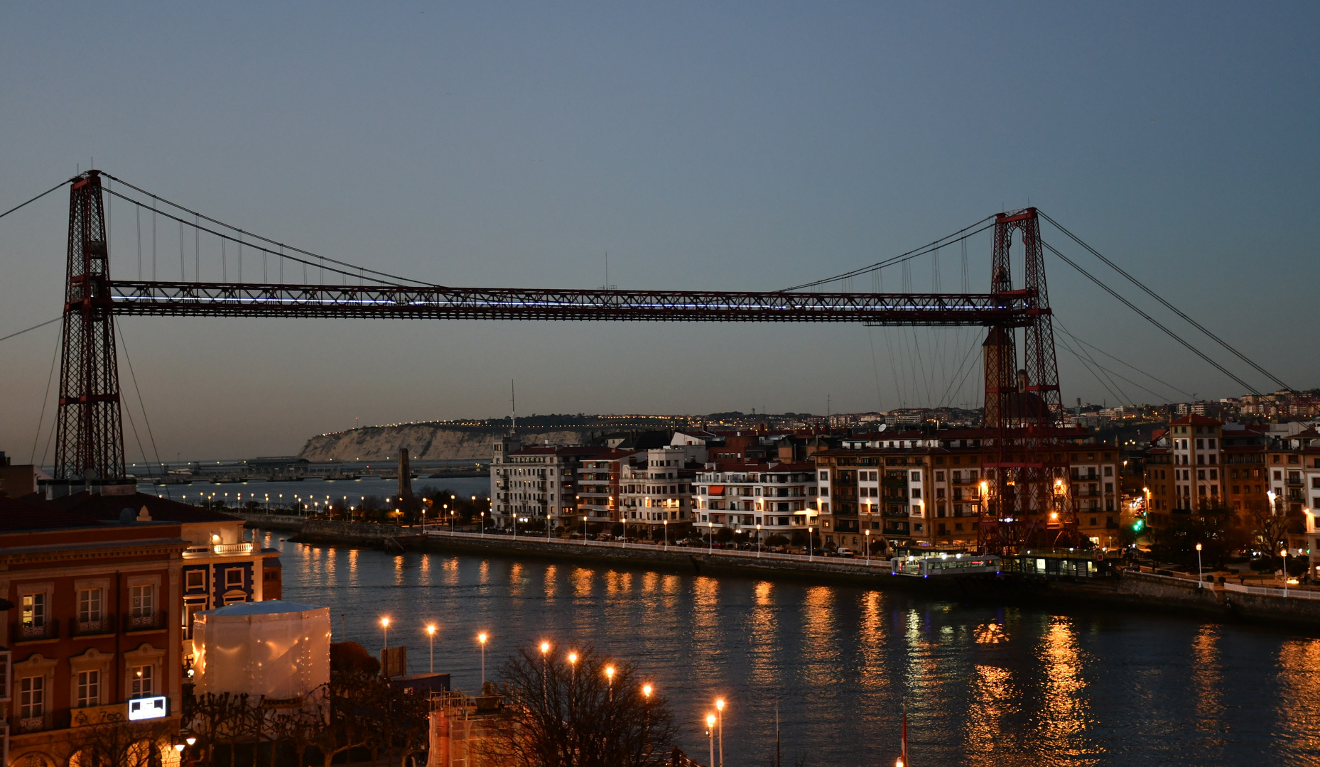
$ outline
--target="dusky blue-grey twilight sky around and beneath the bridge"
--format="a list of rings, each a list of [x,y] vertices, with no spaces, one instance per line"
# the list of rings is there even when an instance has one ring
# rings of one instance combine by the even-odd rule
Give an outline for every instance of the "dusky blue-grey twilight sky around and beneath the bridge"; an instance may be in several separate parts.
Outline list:
[[[238,226],[446,285],[594,288],[609,252],[620,289],[779,289],[1030,201],[1309,388],[1317,40],[1313,3],[11,4],[0,210],[95,157]],[[0,335],[59,314],[66,217],[61,191],[0,219]],[[136,276],[132,213],[112,217],[112,273]],[[157,236],[177,279],[177,227]],[[989,251],[969,243],[973,290]],[[940,268],[960,289],[958,248]],[[1242,393],[1053,256],[1047,269],[1069,331],[1185,392],[1098,358],[1151,389],[1115,392],[1060,349],[1065,403]],[[913,263],[912,288],[932,272]],[[883,279],[903,285],[898,268]],[[511,379],[523,413],[975,404],[981,383],[954,378],[970,330],[120,329],[166,461],[292,453],[355,418],[502,416]],[[0,450],[20,461],[34,442],[42,459],[55,341],[51,325],[0,342]],[[120,368],[143,429],[123,355]]]

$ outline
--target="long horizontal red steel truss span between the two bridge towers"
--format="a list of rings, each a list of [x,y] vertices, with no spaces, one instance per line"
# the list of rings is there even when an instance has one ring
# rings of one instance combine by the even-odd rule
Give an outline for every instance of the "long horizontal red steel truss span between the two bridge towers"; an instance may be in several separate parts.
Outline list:
[[[150,317],[346,317],[669,322],[863,322],[1022,327],[1027,290],[792,293],[553,290],[393,285],[114,281],[114,313]]]

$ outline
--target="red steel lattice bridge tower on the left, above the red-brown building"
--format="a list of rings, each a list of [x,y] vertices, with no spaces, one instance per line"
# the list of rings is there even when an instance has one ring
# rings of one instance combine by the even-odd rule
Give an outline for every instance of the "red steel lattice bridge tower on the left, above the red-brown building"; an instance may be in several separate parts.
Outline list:
[[[88,170],[73,182],[69,197],[69,283],[54,467],[55,484],[65,491],[70,486],[100,486],[104,491],[125,484],[112,309],[100,173]]]

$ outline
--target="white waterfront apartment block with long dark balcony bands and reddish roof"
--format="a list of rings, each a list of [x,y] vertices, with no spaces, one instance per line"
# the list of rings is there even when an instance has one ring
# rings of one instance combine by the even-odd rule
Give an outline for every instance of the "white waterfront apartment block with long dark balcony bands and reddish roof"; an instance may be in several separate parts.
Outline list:
[[[698,529],[746,531],[752,540],[814,524],[816,465],[710,462],[694,478]]]

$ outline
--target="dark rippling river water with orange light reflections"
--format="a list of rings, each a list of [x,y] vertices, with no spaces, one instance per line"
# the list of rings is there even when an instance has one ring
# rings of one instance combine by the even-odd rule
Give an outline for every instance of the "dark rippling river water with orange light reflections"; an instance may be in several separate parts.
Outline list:
[[[343,635],[408,646],[440,624],[436,671],[463,690],[543,639],[594,643],[648,672],[680,745],[706,760],[725,697],[729,767],[888,766],[907,701],[909,763],[1320,764],[1320,640],[1155,613],[964,605],[861,586],[451,554],[279,548],[288,601]]]

